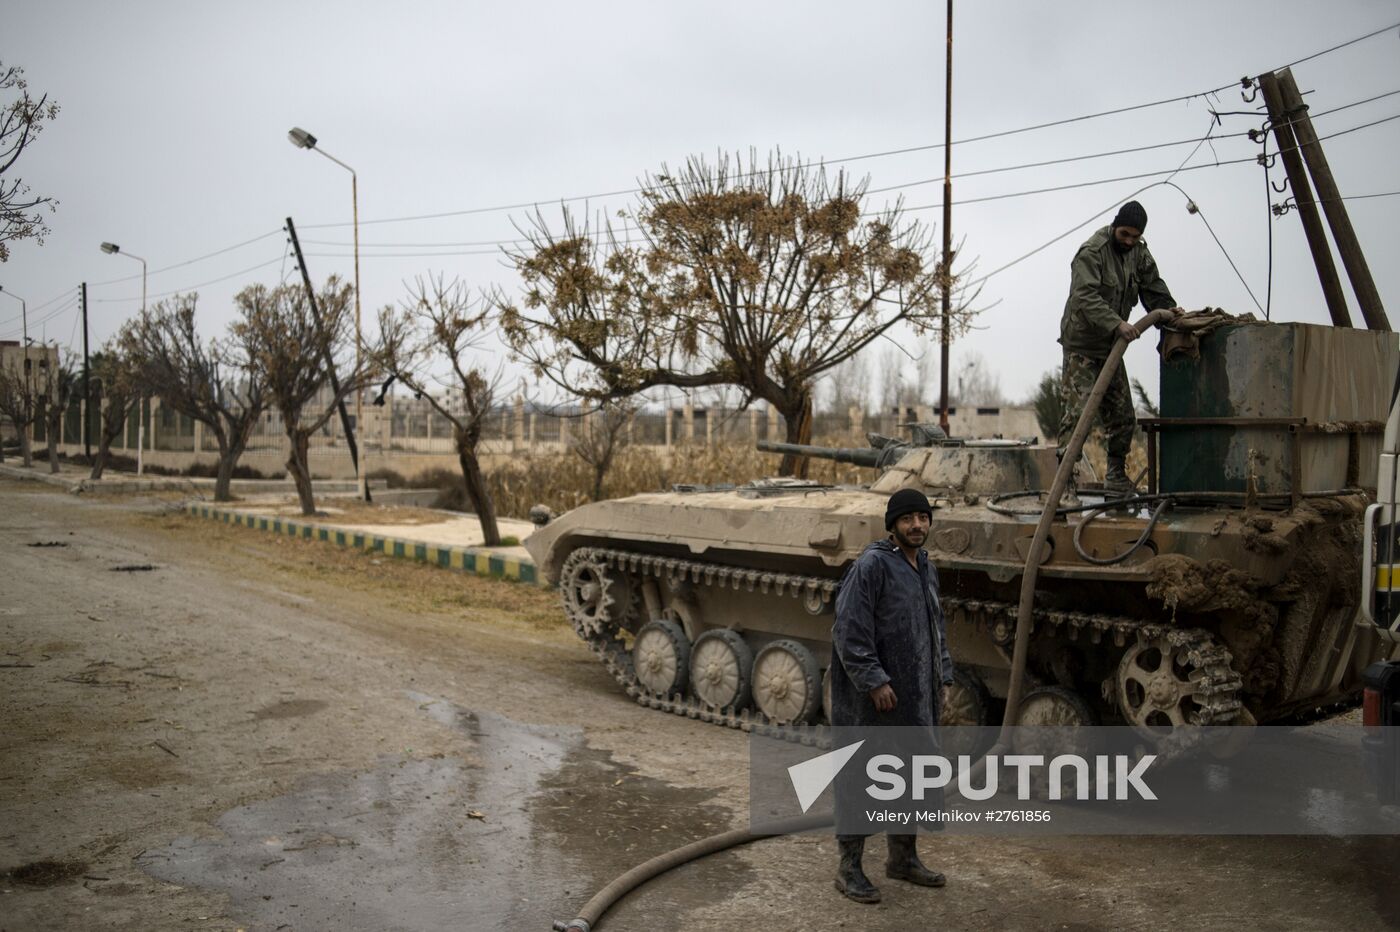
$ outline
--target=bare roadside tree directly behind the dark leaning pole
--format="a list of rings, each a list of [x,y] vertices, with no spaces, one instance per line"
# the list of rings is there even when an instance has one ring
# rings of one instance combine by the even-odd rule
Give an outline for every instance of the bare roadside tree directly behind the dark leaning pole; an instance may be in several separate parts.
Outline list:
[[[246,354],[249,375],[281,416],[291,446],[287,473],[297,486],[301,514],[314,515],[311,435],[325,427],[343,399],[368,383],[370,367],[354,365],[354,287],[330,276],[316,295],[319,320],[307,292],[295,285],[255,284],[234,301],[239,318],[231,327],[232,339]],[[330,390],[328,361],[342,374],[339,392]]]

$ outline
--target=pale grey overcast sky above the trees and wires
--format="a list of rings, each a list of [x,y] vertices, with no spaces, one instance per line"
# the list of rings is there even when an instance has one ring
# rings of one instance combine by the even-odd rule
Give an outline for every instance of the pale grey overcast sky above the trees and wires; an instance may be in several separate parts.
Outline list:
[[[294,148],[291,126],[360,176],[365,319],[427,271],[515,287],[498,241],[539,203],[636,185],[664,162],[757,147],[826,160],[872,188],[904,186],[911,216],[941,214],[944,28],[941,3],[74,3],[8,0],[0,56],[62,113],[13,169],[59,199],[43,245],[14,243],[0,285],[29,306],[31,336],[81,350],[76,287],[88,283],[92,346],[140,308],[144,256],[154,302],[197,290],[206,333],[231,297],[293,273],[291,216],[321,280],[351,276],[350,178]],[[956,7],[953,139],[1197,94],[1400,21],[1400,3],[969,3]],[[1295,66],[1319,134],[1400,115],[1396,29]],[[953,375],[980,354],[1012,399],[1058,364],[1060,312],[1077,246],[1128,195],[1162,175],[962,203],[1176,168],[1273,318],[1329,322],[1298,214],[1270,220],[1270,192],[1245,137],[1215,139],[1211,109],[1250,111],[1236,88],[1215,97],[953,147],[953,172],[1109,150],[1187,144],[955,179],[953,234],[984,283],[979,330],[953,346]],[[1257,127],[1224,116],[1217,137]],[[1400,119],[1324,143],[1344,196],[1400,192]],[[899,155],[857,155],[930,147]],[[1242,164],[1219,165],[1246,160]],[[1197,168],[1200,167],[1200,168]],[[1278,164],[1271,178],[1282,181]],[[932,183],[917,185],[932,179]],[[876,204],[885,197],[879,195]],[[1254,311],[1254,301],[1186,199],[1138,196],[1147,239],[1187,308]],[[592,213],[627,197],[592,197]],[[575,210],[584,202],[573,204]],[[1392,319],[1400,316],[1400,197],[1348,200]],[[434,220],[400,217],[459,213]],[[1088,223],[1088,221],[1093,223]],[[384,221],[384,223],[381,223]],[[321,224],[333,224],[319,227]],[[238,243],[259,238],[248,245]],[[461,245],[473,243],[473,245]],[[477,245],[483,243],[483,245]],[[218,255],[216,250],[224,250]],[[440,255],[423,255],[440,253]],[[455,253],[455,255],[442,255]],[[120,278],[126,278],[125,281]],[[119,280],[119,281],[113,281]],[[1350,297],[1350,290],[1348,290]],[[17,339],[20,305],[0,298],[0,339]],[[1352,316],[1361,315],[1352,305]],[[1130,372],[1156,386],[1149,340]],[[916,348],[917,351],[917,348]],[[872,360],[874,362],[874,360]],[[518,372],[518,368],[511,369]],[[937,400],[930,397],[930,400]]]

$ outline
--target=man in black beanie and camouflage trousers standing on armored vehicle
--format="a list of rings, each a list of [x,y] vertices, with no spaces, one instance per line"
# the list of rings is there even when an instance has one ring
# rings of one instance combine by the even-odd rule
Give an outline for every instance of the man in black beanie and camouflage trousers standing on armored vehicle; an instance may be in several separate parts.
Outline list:
[[[1127,322],[1138,301],[1148,311],[1170,308],[1176,299],[1156,270],[1156,260],[1142,239],[1147,210],[1135,200],[1119,209],[1113,223],[1089,236],[1070,263],[1070,299],[1060,318],[1060,346],[1064,368],[1060,375],[1060,449],[1079,421],[1084,404],[1099,378],[1113,344],[1120,337],[1133,341],[1138,333]],[[1137,416],[1128,374],[1119,364],[1099,407],[1098,421],[1107,435],[1109,467],[1103,479],[1107,491],[1133,491],[1127,455],[1133,445]]]

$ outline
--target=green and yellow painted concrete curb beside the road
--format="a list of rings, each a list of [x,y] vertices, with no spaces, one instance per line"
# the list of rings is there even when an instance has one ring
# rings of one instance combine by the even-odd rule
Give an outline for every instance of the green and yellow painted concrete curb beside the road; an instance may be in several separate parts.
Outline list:
[[[543,585],[535,570],[535,563],[529,558],[505,556],[490,547],[451,547],[430,544],[410,537],[389,537],[367,535],[358,530],[346,530],[329,525],[316,525],[307,521],[256,515],[232,508],[217,508],[190,502],[185,505],[185,512],[195,518],[209,518],[221,521],[225,525],[252,528],[255,530],[269,530],[287,537],[301,537],[302,540],[325,540],[337,547],[353,547],[367,553],[382,553],[386,557],[400,560],[417,560],[431,563],[447,570],[461,570],[475,572],[479,577],[496,577],[498,579],[512,579],[515,582],[531,582]]]

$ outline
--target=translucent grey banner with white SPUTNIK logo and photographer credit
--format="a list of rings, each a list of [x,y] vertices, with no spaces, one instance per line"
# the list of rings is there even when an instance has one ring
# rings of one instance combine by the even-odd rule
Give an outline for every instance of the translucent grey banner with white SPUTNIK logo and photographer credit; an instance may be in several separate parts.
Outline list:
[[[833,726],[816,737],[829,743],[750,735],[755,833],[1400,834],[1366,768],[1362,739],[1378,736],[1347,722],[1166,736]]]

